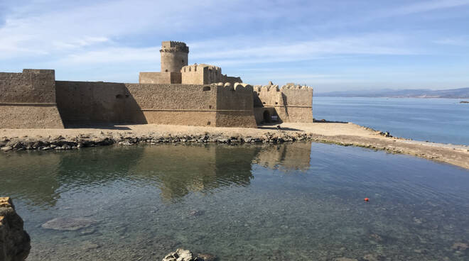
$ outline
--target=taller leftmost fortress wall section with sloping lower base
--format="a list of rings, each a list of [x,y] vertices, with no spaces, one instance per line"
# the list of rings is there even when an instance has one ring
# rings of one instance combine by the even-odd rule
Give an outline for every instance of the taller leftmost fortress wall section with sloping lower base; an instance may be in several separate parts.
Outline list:
[[[63,128],[54,70],[0,72],[0,128]]]

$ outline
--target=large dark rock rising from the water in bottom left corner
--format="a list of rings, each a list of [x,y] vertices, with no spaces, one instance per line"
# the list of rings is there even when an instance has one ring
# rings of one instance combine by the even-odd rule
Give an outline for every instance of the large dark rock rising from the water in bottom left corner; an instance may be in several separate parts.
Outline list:
[[[23,261],[31,250],[31,238],[9,197],[0,197],[0,260]]]

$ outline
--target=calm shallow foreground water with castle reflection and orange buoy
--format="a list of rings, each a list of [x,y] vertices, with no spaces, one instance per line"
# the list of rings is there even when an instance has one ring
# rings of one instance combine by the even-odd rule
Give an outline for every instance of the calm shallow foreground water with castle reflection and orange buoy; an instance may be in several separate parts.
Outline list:
[[[0,155],[28,260],[468,260],[469,171],[318,143],[151,145]],[[363,199],[370,198],[370,203]],[[78,231],[41,227],[88,218]]]

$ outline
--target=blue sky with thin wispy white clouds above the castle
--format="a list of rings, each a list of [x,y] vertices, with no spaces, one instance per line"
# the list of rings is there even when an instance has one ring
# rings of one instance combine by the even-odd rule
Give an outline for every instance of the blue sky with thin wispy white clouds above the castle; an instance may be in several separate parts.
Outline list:
[[[163,40],[249,84],[469,87],[469,0],[0,0],[0,72],[138,82]]]

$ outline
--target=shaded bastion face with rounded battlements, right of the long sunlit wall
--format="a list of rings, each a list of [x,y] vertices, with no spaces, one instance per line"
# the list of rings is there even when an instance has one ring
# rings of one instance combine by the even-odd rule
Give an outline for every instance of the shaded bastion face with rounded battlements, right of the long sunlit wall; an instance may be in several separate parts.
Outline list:
[[[217,127],[257,128],[254,118],[252,86],[230,84],[217,88]]]

